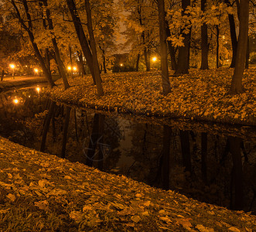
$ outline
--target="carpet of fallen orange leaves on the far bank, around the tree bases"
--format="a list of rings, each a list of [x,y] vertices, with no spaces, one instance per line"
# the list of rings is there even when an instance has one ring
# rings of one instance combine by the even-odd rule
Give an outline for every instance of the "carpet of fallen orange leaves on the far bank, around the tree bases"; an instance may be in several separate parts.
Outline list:
[[[244,94],[227,94],[234,70],[189,70],[170,77],[172,93],[162,95],[159,71],[102,74],[105,95],[97,97],[90,75],[70,79],[46,94],[56,101],[83,107],[148,116],[170,116],[230,124],[256,125],[256,68],[244,72]]]

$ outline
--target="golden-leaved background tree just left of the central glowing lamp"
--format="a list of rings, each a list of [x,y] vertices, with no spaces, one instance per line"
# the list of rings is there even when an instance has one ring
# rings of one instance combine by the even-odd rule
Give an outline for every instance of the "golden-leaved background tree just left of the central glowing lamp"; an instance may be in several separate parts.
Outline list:
[[[125,17],[124,32],[127,41],[124,47],[131,46],[130,56],[136,57],[136,70],[138,70],[139,59],[144,54],[146,71],[150,70],[150,54],[158,43],[157,28],[158,12],[155,10],[154,2],[148,0],[120,1],[124,11],[129,12]]]

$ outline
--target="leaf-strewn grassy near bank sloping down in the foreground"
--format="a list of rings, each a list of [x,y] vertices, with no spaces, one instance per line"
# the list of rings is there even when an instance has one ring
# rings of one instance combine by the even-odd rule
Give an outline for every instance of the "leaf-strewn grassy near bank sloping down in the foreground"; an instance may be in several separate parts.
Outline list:
[[[255,231],[256,217],[0,138],[1,231]]]

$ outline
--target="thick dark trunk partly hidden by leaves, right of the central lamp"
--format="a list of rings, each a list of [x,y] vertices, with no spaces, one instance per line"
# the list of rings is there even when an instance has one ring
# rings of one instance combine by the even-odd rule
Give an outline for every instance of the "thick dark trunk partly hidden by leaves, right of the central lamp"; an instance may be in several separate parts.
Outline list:
[[[183,15],[185,14],[186,7],[190,5],[190,0],[182,0],[182,8],[183,8]],[[183,43],[184,46],[179,47],[179,55],[178,55],[178,63],[177,69],[175,74],[186,74],[189,73],[189,46],[190,46],[190,37],[191,37],[191,28],[189,29],[188,33],[183,32],[181,30],[181,34],[183,36]]]

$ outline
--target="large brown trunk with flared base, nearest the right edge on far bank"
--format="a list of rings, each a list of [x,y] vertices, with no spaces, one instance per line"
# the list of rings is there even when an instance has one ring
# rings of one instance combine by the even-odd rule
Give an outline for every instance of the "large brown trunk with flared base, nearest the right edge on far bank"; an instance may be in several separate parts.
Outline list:
[[[242,78],[247,52],[248,40],[248,19],[249,19],[249,0],[240,1],[240,21],[239,21],[239,36],[237,44],[236,65],[234,67],[234,75],[230,86],[230,94],[241,94],[244,92]]]

